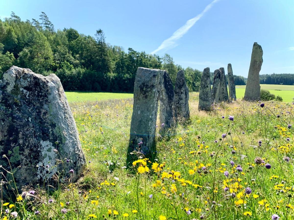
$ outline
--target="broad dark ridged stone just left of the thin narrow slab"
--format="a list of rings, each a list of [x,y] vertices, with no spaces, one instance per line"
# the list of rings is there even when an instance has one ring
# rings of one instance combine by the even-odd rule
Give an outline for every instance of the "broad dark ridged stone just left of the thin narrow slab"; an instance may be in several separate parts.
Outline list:
[[[211,99],[214,103],[229,101],[228,87],[225,80],[225,69],[223,67],[214,71]]]

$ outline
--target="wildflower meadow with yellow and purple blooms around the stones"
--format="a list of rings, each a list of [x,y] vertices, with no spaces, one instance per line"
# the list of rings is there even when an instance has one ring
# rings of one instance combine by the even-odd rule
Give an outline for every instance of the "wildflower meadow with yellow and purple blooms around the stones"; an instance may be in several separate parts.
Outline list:
[[[157,159],[127,170],[132,99],[69,94],[86,170],[53,193],[4,201],[1,219],[294,219],[292,103],[238,100],[206,113],[191,93],[191,121],[157,133]]]

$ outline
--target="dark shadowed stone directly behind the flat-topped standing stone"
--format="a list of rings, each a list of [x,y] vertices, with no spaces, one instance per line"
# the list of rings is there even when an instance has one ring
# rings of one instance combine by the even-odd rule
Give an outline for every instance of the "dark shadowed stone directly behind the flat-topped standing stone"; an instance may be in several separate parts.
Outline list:
[[[175,92],[173,90],[173,83],[168,72],[164,71],[159,91],[159,133],[161,136],[165,136],[168,129],[172,128],[175,124],[174,104]]]

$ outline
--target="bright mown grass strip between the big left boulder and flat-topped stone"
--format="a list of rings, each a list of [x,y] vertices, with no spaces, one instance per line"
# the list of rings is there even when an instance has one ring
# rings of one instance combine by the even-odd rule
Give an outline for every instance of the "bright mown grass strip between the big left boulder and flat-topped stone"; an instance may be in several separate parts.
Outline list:
[[[69,102],[101,101],[108,99],[133,98],[131,93],[110,93],[110,92],[65,92]]]

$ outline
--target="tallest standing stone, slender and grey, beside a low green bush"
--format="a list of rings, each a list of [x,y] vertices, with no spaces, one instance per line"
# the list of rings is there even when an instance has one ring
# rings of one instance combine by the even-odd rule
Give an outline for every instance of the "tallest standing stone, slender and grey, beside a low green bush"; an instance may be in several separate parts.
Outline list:
[[[248,79],[245,89],[244,99],[248,101],[260,100],[260,79],[259,72],[261,65],[263,50],[256,42],[253,44]]]

